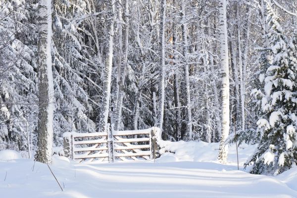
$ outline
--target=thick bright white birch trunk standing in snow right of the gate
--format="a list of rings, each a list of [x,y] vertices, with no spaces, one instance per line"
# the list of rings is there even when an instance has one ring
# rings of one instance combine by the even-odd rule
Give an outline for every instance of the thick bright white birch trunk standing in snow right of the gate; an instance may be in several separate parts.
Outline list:
[[[219,29],[220,29],[220,58],[222,74],[222,132],[219,148],[218,160],[226,163],[228,155],[228,145],[225,141],[230,129],[230,110],[229,110],[229,60],[228,60],[228,36],[226,18],[226,0],[219,2]]]

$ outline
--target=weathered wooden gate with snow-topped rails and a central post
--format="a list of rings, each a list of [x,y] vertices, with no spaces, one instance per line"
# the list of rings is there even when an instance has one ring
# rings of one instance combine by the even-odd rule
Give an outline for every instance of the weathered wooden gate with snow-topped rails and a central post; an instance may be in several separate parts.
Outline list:
[[[107,133],[64,133],[64,154],[79,162],[155,158],[159,129]]]

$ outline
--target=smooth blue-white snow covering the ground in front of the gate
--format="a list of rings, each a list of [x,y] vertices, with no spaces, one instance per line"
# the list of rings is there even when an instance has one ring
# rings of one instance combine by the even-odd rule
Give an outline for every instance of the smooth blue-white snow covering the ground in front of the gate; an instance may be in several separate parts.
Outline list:
[[[297,168],[276,177],[252,175],[243,163],[255,146],[229,150],[228,164],[217,163],[218,144],[166,143],[152,161],[76,163],[54,156],[50,166],[31,159],[5,160],[0,152],[1,198],[297,198]],[[164,151],[164,150],[161,150]],[[18,158],[18,157],[15,157]],[[6,158],[8,159],[8,158]]]

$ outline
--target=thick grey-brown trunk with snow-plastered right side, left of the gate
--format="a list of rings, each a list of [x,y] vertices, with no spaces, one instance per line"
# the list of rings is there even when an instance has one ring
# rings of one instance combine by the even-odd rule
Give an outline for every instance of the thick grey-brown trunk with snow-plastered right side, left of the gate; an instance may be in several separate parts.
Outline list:
[[[51,0],[39,1],[38,80],[39,114],[35,160],[49,164],[52,155],[54,91],[51,60]]]

